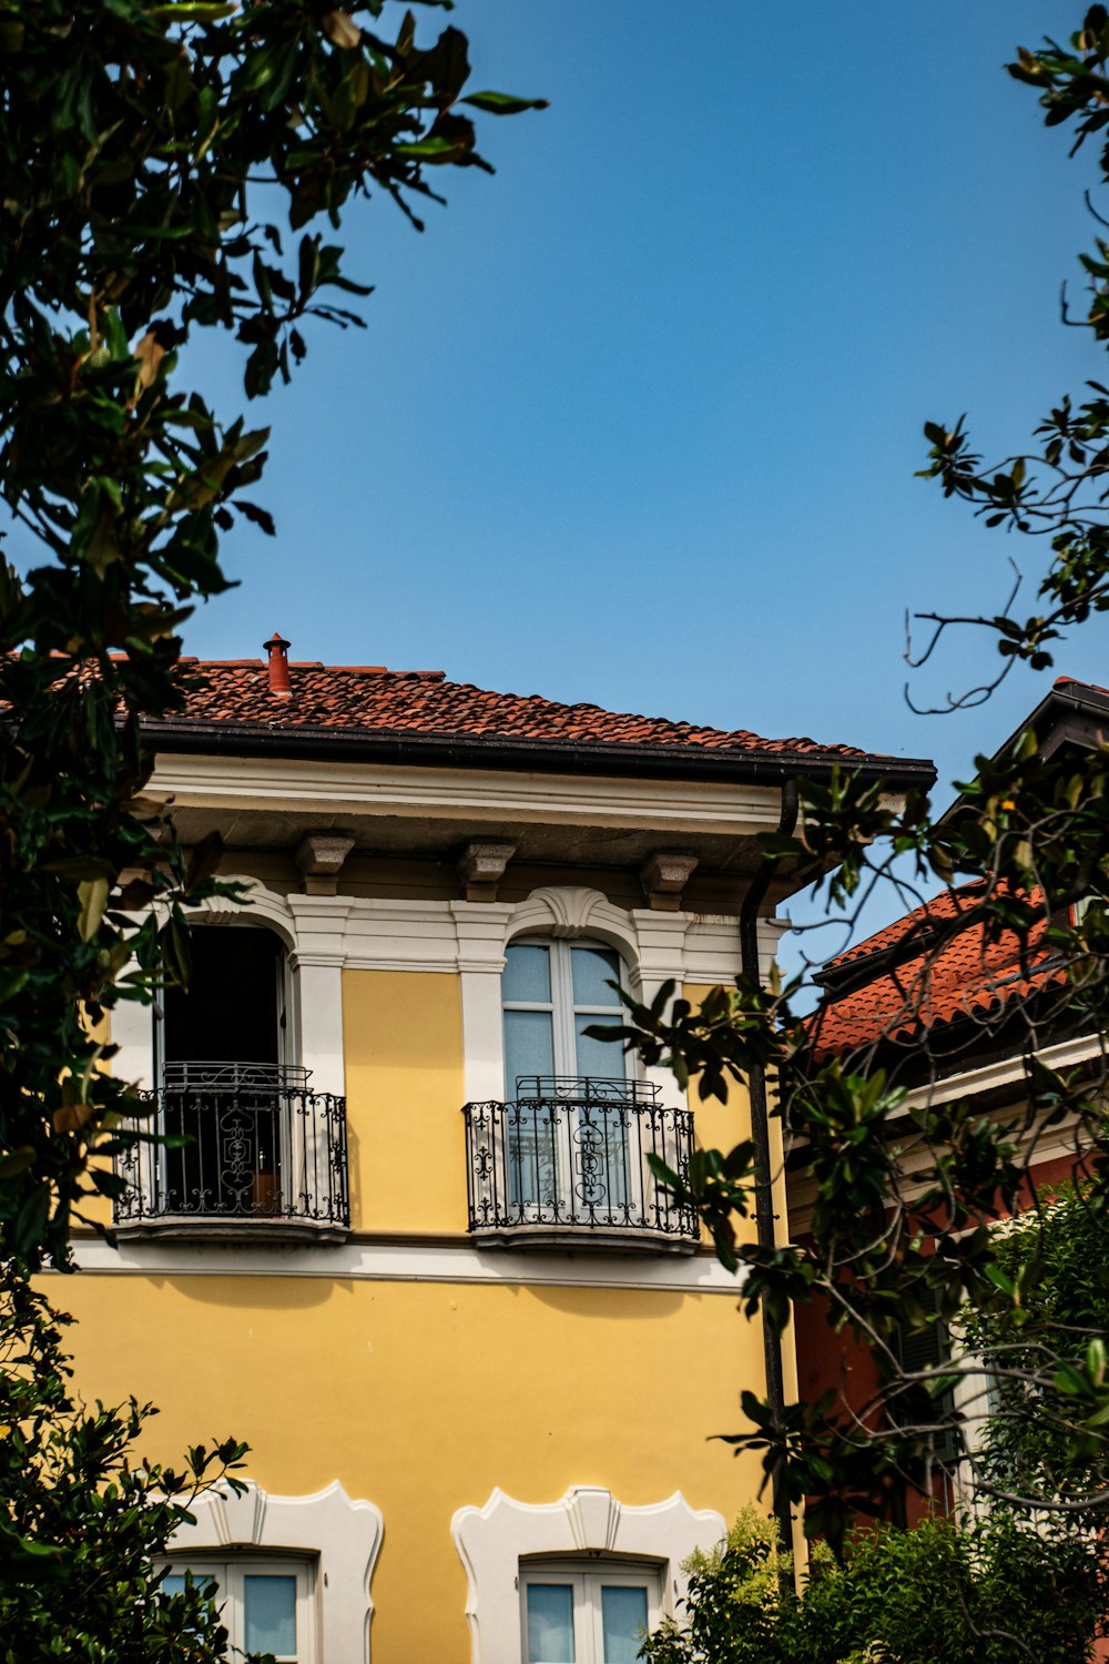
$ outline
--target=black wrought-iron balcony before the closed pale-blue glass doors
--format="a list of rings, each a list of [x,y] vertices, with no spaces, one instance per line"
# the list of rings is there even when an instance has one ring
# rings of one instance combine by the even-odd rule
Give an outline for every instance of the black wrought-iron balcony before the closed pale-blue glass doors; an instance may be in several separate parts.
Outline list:
[[[690,1110],[628,1080],[520,1077],[512,1103],[467,1103],[469,1228],[479,1246],[692,1253],[697,1215],[650,1171],[685,1173]]]

